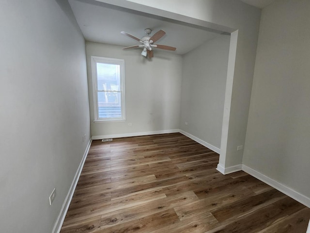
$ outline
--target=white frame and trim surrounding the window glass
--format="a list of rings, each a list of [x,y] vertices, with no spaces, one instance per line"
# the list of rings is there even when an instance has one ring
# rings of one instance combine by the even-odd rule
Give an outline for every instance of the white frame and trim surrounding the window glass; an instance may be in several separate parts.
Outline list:
[[[97,98],[97,63],[113,64],[120,65],[120,90],[121,90],[121,117],[112,117],[112,118],[99,118],[98,111],[98,98]],[[94,122],[107,122],[107,121],[124,121],[125,117],[125,61],[124,59],[116,59],[109,57],[98,57],[91,56],[91,66],[92,66],[92,83],[93,83],[93,113],[94,113]]]

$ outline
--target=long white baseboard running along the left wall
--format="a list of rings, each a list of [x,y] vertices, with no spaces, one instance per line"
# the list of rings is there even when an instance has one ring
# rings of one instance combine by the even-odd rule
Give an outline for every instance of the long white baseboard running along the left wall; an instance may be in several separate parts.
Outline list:
[[[87,154],[88,154],[88,151],[89,151],[89,149],[91,147],[91,144],[92,144],[92,139],[89,140],[88,145],[87,145],[87,147],[85,149],[85,152],[83,154],[82,160],[81,160],[81,162],[80,162],[80,164],[78,166],[78,170],[77,170],[77,172],[76,172],[76,174],[74,176],[73,182],[71,183],[71,186],[69,188],[68,194],[67,194],[66,198],[63,201],[62,209],[61,209],[61,211],[59,213],[59,216],[57,217],[57,220],[55,222],[55,225],[54,225],[52,233],[60,233],[60,230],[62,229],[62,223],[63,223],[64,218],[65,218],[65,216],[67,214],[67,211],[69,209],[69,205],[70,205],[70,202],[72,200],[74,190],[76,189],[76,186],[77,186],[77,183],[78,183],[79,175],[82,172],[82,168],[84,166],[85,159],[87,157]]]

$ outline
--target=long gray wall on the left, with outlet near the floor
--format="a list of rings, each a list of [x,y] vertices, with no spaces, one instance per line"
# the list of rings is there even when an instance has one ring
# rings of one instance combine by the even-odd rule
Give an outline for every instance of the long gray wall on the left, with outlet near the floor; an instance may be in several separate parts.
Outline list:
[[[0,29],[0,231],[50,233],[90,138],[85,41],[63,0],[1,0]]]

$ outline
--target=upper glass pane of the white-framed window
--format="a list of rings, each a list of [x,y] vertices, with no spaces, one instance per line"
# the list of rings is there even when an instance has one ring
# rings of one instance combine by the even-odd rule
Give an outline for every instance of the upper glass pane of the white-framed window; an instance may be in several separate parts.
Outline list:
[[[97,89],[120,91],[120,65],[97,63]]]

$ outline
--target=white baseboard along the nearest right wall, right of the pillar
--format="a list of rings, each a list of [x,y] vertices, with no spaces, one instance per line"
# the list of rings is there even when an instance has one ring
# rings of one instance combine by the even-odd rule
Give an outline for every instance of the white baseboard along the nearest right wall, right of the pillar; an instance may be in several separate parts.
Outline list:
[[[263,183],[269,184],[275,189],[278,189],[280,192],[286,194],[287,196],[293,198],[294,200],[297,200],[298,202],[310,208],[310,198],[294,191],[293,189],[285,186],[284,184],[279,183],[246,165],[242,165],[242,170],[247,172],[251,176],[254,176],[255,178],[259,179]]]

